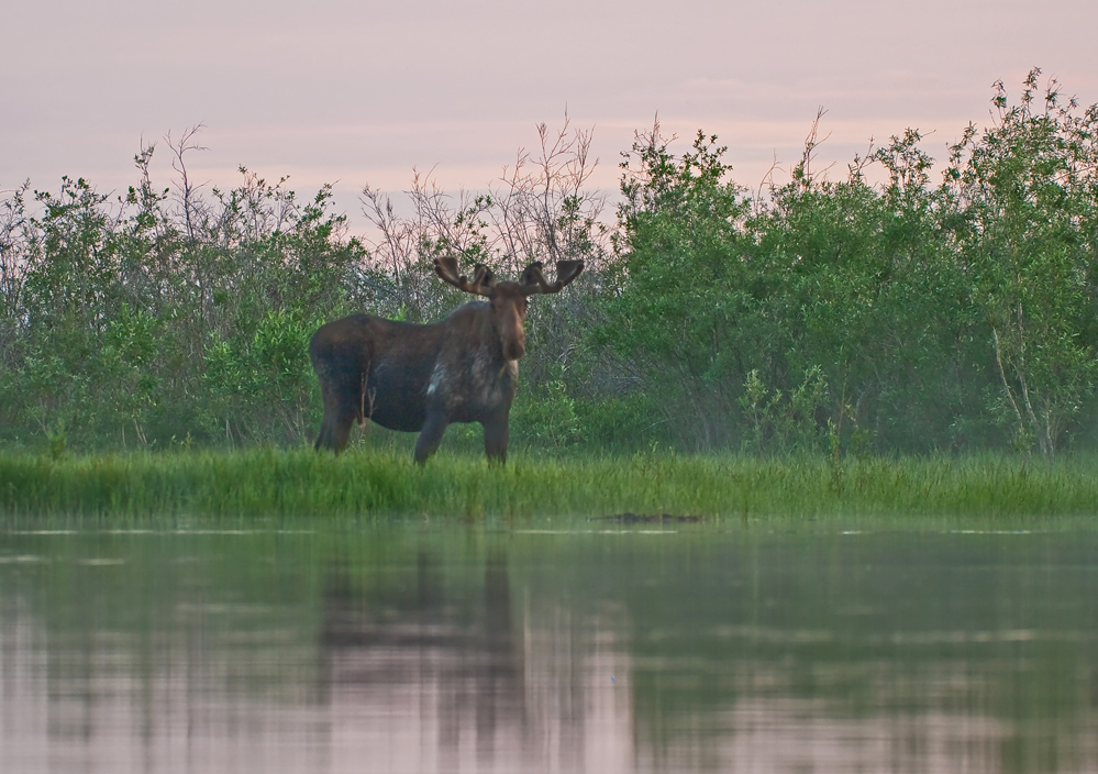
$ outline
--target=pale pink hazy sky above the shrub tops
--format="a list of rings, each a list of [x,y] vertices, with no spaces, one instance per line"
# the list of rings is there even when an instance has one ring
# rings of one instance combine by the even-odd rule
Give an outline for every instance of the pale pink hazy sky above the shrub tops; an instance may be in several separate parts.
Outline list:
[[[363,184],[399,191],[413,167],[484,188],[565,110],[594,128],[601,187],[657,111],[678,147],[718,134],[757,186],[821,106],[821,158],[845,168],[907,126],[944,159],[987,123],[991,84],[1017,95],[1033,66],[1098,102],[1096,0],[34,0],[0,19],[0,190],[62,175],[124,190],[142,139],[167,185],[164,135],[204,123],[196,179],[232,186],[245,165],[302,196],[335,183],[357,215]]]

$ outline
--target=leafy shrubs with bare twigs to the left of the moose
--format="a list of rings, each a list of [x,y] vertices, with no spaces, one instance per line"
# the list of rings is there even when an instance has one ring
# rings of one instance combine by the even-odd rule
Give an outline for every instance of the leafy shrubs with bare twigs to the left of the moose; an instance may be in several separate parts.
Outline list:
[[[313,400],[309,335],[364,300],[364,251],[328,212],[241,169],[243,184],[173,200],[148,180],[111,202],[84,179],[7,201],[0,407],[10,441],[293,441]],[[176,208],[173,208],[173,204]],[[16,239],[18,237],[18,239]],[[228,436],[226,436],[228,433]]]

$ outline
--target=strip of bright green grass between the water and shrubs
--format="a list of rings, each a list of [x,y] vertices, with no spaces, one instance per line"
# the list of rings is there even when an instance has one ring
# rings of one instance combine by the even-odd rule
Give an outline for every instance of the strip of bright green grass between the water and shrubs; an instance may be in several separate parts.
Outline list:
[[[252,450],[0,454],[8,517],[439,517],[621,513],[706,519],[1098,515],[1098,458],[756,458],[639,454],[533,458],[503,468],[440,454]]]

